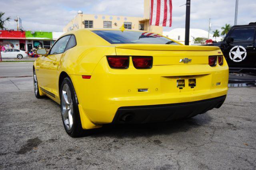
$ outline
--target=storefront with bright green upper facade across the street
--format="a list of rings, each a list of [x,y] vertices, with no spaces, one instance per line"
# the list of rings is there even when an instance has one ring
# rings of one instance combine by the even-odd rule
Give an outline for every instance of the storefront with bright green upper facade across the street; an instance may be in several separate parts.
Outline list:
[[[52,47],[52,32],[26,31],[26,46],[31,49]]]

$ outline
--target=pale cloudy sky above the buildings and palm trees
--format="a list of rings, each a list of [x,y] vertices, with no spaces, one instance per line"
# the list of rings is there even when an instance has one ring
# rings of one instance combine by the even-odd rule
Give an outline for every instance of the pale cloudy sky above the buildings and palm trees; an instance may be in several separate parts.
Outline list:
[[[76,16],[78,10],[84,14],[143,17],[144,0],[0,0],[0,11],[12,20],[6,25],[16,29],[16,16],[22,19],[22,27],[31,31],[62,31]],[[191,0],[190,28],[211,31],[228,23],[234,25],[236,0]],[[186,0],[172,0],[172,27],[164,31],[185,27]],[[256,22],[256,0],[239,0],[238,25]]]

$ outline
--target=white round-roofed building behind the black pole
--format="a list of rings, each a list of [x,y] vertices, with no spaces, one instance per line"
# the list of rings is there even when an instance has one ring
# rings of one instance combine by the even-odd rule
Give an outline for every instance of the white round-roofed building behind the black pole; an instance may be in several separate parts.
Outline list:
[[[182,44],[185,43],[185,28],[175,28],[170,31],[163,31],[163,35],[166,37],[169,37],[170,39],[176,40]],[[205,31],[203,29],[190,29],[189,31],[189,45],[194,44],[194,39],[197,37],[205,37],[208,38],[208,31]],[[210,33],[209,39],[212,39],[215,41],[215,37],[213,37],[213,34]],[[217,37],[216,41],[221,41],[222,37]]]

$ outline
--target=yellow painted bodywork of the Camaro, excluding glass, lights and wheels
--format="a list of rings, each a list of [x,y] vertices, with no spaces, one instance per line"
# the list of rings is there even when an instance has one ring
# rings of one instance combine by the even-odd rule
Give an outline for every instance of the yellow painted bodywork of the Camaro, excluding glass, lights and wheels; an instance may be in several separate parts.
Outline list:
[[[64,35],[69,34],[76,37],[75,47],[61,54],[39,57],[34,63],[34,68],[40,94],[49,96],[58,104],[59,78],[63,72],[68,74],[78,97],[83,129],[111,123],[117,109],[123,106],[176,104],[227,94],[226,60],[224,59],[222,66],[208,65],[208,56],[223,55],[219,47],[110,44],[91,29],[79,29]],[[108,55],[130,56],[129,68],[110,68],[106,59]],[[152,68],[134,68],[131,57],[134,55],[152,56]],[[179,62],[185,57],[192,59],[191,63]],[[91,78],[83,79],[82,75],[90,75]],[[184,79],[185,84],[188,84],[189,78],[196,78],[195,88],[177,88],[176,80]],[[148,92],[138,92],[140,88],[147,88]]]

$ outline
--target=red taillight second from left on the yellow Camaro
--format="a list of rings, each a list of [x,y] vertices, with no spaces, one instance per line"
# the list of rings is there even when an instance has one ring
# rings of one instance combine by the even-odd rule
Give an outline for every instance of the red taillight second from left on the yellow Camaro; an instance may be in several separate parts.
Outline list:
[[[132,57],[132,63],[137,69],[152,68],[153,57]]]

